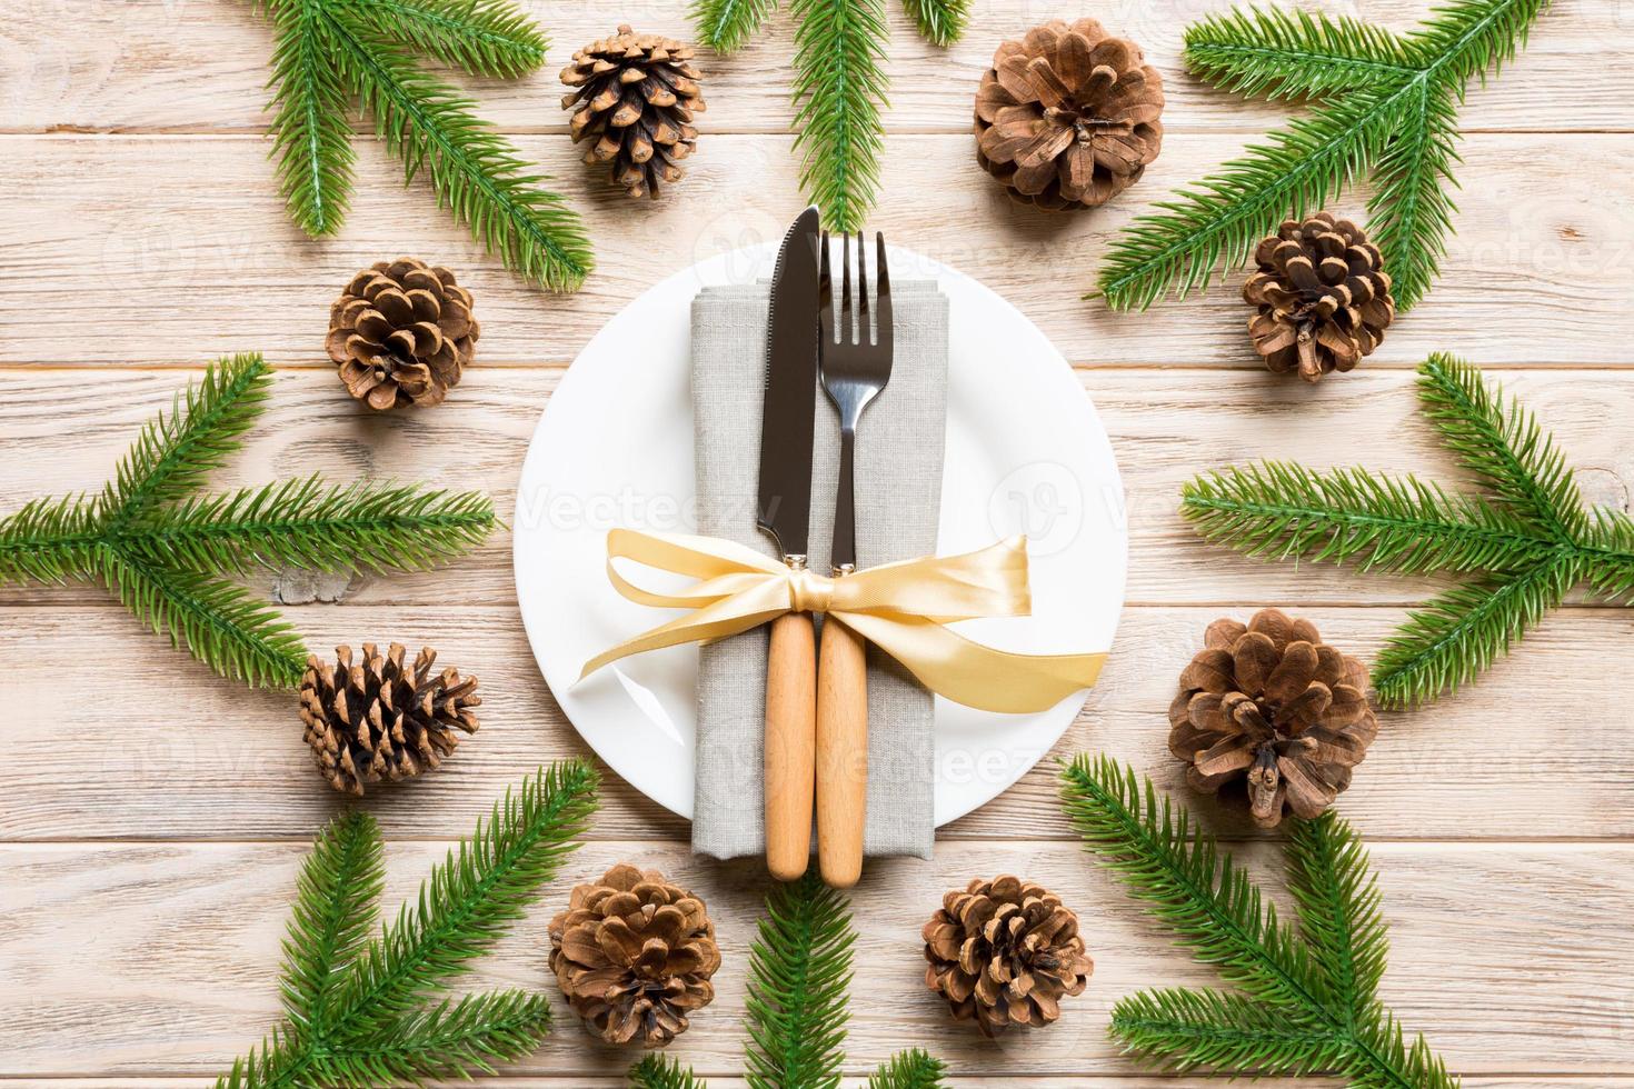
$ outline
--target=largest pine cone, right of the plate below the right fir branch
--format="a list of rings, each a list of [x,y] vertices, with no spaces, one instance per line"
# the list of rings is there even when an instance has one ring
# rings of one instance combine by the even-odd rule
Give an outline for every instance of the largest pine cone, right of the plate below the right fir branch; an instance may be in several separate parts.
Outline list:
[[[1180,674],[1168,749],[1186,780],[1247,807],[1261,828],[1319,816],[1379,733],[1368,671],[1276,609],[1216,620]]]

